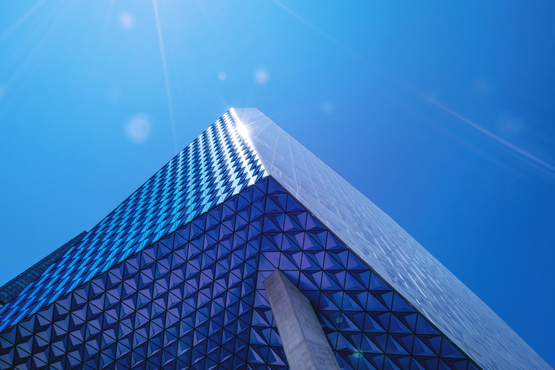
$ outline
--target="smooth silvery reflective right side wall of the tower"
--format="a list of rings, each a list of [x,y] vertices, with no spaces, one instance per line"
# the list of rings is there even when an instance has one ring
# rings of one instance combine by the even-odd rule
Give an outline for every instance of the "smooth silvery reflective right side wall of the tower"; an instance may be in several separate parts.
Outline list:
[[[485,369],[551,369],[391,217],[255,108],[232,109],[266,171]]]

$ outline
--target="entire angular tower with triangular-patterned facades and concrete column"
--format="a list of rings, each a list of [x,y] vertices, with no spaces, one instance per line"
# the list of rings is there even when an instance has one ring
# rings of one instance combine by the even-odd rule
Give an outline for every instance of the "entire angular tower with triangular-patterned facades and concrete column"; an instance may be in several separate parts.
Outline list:
[[[0,308],[2,369],[286,368],[315,353],[329,368],[549,369],[257,109],[225,113]]]

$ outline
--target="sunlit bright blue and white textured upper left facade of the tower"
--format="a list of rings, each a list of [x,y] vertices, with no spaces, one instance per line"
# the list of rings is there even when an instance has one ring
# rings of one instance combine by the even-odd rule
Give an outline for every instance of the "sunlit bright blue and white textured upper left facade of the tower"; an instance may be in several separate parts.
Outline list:
[[[0,331],[238,194],[263,172],[234,117],[224,114],[0,308]]]

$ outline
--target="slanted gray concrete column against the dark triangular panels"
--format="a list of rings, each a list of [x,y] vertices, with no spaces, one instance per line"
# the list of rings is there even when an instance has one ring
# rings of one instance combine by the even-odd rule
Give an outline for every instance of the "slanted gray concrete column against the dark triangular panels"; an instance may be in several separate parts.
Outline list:
[[[264,280],[291,370],[339,370],[310,301],[280,271]]]

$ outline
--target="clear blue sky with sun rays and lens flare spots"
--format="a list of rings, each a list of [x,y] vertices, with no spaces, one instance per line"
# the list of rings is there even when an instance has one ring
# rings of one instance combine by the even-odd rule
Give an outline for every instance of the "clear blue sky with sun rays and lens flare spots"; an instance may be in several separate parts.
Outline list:
[[[0,283],[258,107],[555,366],[555,3],[0,9]]]

